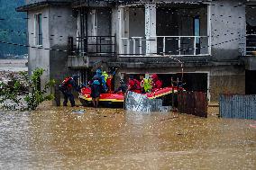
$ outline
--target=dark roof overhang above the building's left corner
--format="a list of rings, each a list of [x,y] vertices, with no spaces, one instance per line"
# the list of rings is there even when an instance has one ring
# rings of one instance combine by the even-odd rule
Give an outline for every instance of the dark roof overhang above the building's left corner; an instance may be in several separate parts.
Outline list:
[[[33,4],[26,4],[26,5],[23,5],[23,6],[19,6],[16,8],[16,11],[17,12],[28,12],[28,11],[32,11],[32,10],[35,10],[35,9],[38,9],[38,8],[42,8],[42,7],[45,7],[45,6],[50,6],[50,5],[70,5],[71,3],[70,2],[56,2],[56,1],[48,1],[48,0],[45,0],[45,1],[41,1],[41,2],[38,2],[38,3],[33,3]]]

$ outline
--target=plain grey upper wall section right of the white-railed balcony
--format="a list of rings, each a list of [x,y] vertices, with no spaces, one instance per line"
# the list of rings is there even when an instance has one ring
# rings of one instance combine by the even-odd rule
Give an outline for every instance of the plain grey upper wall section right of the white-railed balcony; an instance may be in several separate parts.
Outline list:
[[[214,60],[238,59],[245,34],[245,7],[240,1],[215,1],[211,5],[212,55]],[[241,40],[239,39],[241,38]],[[235,40],[238,39],[238,40]],[[221,44],[219,44],[221,43]]]

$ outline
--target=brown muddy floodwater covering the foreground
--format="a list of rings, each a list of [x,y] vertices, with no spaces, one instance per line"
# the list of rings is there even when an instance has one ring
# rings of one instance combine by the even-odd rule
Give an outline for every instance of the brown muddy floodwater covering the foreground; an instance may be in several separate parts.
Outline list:
[[[0,169],[256,169],[255,124],[82,107],[1,112]]]

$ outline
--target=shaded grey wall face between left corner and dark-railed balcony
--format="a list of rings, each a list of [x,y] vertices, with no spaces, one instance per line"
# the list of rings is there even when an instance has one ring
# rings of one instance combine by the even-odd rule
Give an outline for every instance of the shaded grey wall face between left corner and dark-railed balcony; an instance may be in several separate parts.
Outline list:
[[[69,6],[51,6],[49,9],[49,32],[51,49],[69,49],[68,37],[76,37],[77,19]],[[68,53],[50,50],[50,78],[57,80],[72,74],[67,67]]]

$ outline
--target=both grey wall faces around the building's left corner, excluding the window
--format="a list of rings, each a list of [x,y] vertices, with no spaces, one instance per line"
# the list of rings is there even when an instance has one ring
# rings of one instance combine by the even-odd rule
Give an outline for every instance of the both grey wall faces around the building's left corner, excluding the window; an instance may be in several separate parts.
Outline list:
[[[42,48],[29,49],[29,73],[41,67],[45,70],[41,76],[41,87],[54,78],[57,82],[64,76],[73,74],[67,67],[68,53],[50,49],[68,49],[68,37],[76,37],[76,19],[72,17],[69,6],[49,6],[38,11],[28,12],[28,31],[34,32],[34,14],[42,14]],[[29,34],[30,46],[35,46],[34,35]],[[40,48],[40,47],[38,47]]]

